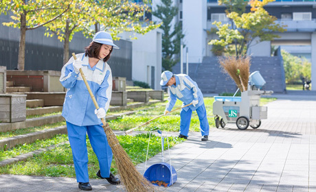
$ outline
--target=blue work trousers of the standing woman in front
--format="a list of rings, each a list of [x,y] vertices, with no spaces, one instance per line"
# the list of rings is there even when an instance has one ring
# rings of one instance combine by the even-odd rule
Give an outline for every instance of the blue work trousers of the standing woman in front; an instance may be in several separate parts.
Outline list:
[[[99,160],[101,176],[109,178],[113,153],[102,125],[78,126],[67,122],[67,131],[77,182],[89,182],[87,133],[93,152]]]

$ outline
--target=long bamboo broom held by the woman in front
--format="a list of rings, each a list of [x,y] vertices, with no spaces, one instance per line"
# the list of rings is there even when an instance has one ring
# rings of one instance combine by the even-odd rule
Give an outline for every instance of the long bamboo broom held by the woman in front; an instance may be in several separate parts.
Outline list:
[[[75,53],[72,53],[72,56],[74,56],[74,59],[77,60]],[[95,100],[95,97],[91,91],[91,88],[87,82],[86,77],[84,76],[84,73],[82,72],[82,69],[80,69],[80,74],[82,76],[84,84],[86,84],[87,86],[93,104],[95,105],[95,108],[98,110],[98,102]],[[108,139],[108,143],[112,149],[117,170],[121,176],[122,184],[125,187],[125,189],[128,192],[156,191],[153,184],[148,182],[148,180],[146,180],[146,178],[144,178],[144,176],[142,176],[142,174],[139,173],[139,171],[137,171],[137,169],[131,161],[131,158],[129,158],[128,154],[126,154],[125,150],[120,145],[120,142],[117,140],[117,137],[111,130],[109,124],[106,123],[104,118],[101,118],[101,121],[103,123],[103,129],[106,134],[106,138]]]

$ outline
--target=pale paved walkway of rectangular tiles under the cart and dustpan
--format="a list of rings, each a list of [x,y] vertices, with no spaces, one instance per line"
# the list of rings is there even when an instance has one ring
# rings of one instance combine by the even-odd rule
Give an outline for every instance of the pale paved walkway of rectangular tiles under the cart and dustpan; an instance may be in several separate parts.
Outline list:
[[[316,191],[316,95],[273,95],[260,128],[212,128],[210,141],[190,132],[170,149],[178,180],[161,191]],[[168,159],[168,152],[165,154]],[[161,163],[161,154],[147,167]],[[144,173],[144,163],[137,165]],[[124,191],[90,180],[93,191]],[[0,175],[0,191],[80,191],[74,178]]]

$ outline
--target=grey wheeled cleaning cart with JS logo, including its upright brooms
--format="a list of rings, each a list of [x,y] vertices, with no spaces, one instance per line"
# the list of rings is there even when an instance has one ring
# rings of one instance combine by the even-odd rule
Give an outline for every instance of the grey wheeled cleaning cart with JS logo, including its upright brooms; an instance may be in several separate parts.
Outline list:
[[[262,91],[266,84],[259,71],[249,75],[250,58],[221,58],[221,67],[236,82],[241,97],[215,96],[213,114],[216,128],[225,128],[227,123],[236,123],[238,129],[245,130],[250,125],[256,129],[261,125],[261,119],[267,119],[267,106],[260,106],[260,95],[271,95],[273,91]]]

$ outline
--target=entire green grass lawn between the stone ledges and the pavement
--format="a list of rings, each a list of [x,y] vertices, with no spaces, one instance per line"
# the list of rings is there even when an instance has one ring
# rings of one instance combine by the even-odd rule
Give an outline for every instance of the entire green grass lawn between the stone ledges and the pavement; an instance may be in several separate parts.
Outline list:
[[[275,98],[262,98],[261,105],[267,104],[269,101],[273,101]],[[150,119],[153,119],[161,114],[163,114],[166,104],[168,101],[163,103],[153,104],[150,106],[145,106],[142,108],[137,108],[135,115],[123,116],[115,120],[109,121],[109,125],[113,130],[128,130],[135,128],[137,125],[140,125]],[[205,108],[207,111],[207,117],[211,128],[214,128],[214,118],[212,114],[213,108],[213,97],[205,97]],[[181,107],[182,102],[177,101],[174,108]],[[163,130],[163,131],[172,131],[179,132],[180,125],[180,111],[177,110],[172,112],[168,116],[160,117],[150,122],[150,124],[139,128],[139,130]],[[111,114],[111,113],[110,113]],[[113,112],[115,114],[115,112]],[[45,128],[44,128],[45,129]],[[21,130],[21,131],[30,131],[30,130]],[[196,115],[196,112],[192,113],[190,131],[199,132],[199,117]],[[13,134],[8,134],[11,136]],[[4,135],[3,135],[4,136]],[[149,134],[138,134],[137,136],[122,135],[117,136],[122,147],[126,150],[128,156],[131,157],[133,163],[137,165],[146,160],[146,151],[148,146],[148,136]],[[6,136],[4,136],[6,137]],[[7,158],[12,158],[20,154],[25,154],[27,152],[32,152],[36,149],[43,147],[48,147],[50,145],[56,145],[58,143],[65,143],[68,141],[67,135],[57,135],[52,139],[46,139],[41,141],[36,141],[31,144],[18,145],[8,150],[0,151],[0,160]],[[170,147],[177,145],[184,141],[177,137],[169,137],[168,142]],[[148,158],[155,156],[155,154],[161,152],[161,141],[159,136],[152,136],[150,139],[148,151]],[[93,149],[87,139],[87,148],[89,156],[89,177],[96,178],[95,173],[99,169],[98,159],[96,158]],[[164,148],[168,148],[168,143],[164,142]],[[168,156],[168,155],[167,155]],[[114,159],[113,159],[114,160]],[[112,163],[111,171],[117,173],[115,163]],[[23,162],[14,163],[12,165],[7,165],[0,167],[1,174],[21,174],[21,175],[32,175],[32,176],[64,176],[64,177],[76,177],[74,171],[74,162],[71,154],[71,147],[68,143],[63,145],[58,145],[56,148],[51,149],[47,152],[35,155],[33,158],[29,158]]]

